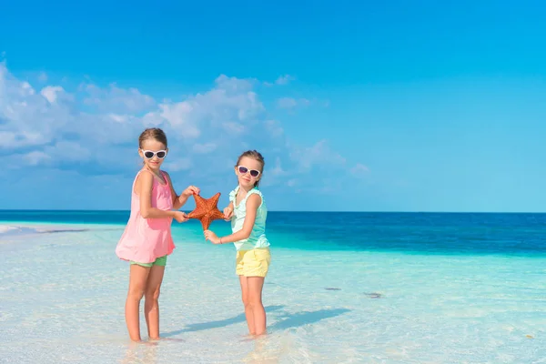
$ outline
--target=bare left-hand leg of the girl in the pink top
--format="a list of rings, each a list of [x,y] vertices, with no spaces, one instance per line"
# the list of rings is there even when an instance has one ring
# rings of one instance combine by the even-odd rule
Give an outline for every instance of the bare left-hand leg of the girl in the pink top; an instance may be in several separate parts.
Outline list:
[[[131,264],[129,273],[129,289],[126,298],[126,325],[129,337],[133,341],[140,341],[139,307],[140,299],[144,296],[147,276],[150,268]]]

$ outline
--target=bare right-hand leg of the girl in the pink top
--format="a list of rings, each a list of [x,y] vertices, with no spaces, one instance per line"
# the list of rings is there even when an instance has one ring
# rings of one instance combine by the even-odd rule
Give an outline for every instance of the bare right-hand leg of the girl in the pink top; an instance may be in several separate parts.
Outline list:
[[[144,317],[150,339],[159,339],[159,288],[163,282],[165,267],[152,266],[144,292]]]

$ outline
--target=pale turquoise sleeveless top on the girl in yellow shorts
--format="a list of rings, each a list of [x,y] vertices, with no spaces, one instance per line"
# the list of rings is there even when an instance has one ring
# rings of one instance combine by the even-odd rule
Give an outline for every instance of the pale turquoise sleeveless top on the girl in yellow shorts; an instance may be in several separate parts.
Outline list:
[[[233,217],[231,217],[231,231],[234,233],[243,228],[245,223],[245,216],[247,215],[247,199],[250,195],[259,195],[261,197],[261,204],[258,207],[256,212],[256,220],[254,222],[254,227],[250,232],[250,236],[246,239],[242,239],[234,242],[235,248],[237,250],[251,250],[255,248],[268,248],[269,241],[266,238],[266,218],[268,217],[268,207],[266,206],[266,201],[259,191],[258,187],[254,187],[248,191],[248,194],[241,202],[236,204],[236,197],[238,194],[239,187],[236,187],[233,191],[229,193],[229,201],[233,203]]]

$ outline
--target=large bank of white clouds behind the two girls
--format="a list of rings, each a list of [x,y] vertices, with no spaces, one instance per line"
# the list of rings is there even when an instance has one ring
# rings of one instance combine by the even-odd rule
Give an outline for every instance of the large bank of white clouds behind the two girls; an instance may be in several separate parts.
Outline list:
[[[289,142],[281,123],[268,116],[256,85],[254,79],[221,75],[205,92],[160,102],[114,84],[87,83],[75,90],[50,85],[36,92],[0,63],[0,149],[25,148],[8,155],[11,167],[128,174],[140,166],[138,135],[145,127],[159,126],[168,138],[166,170],[180,172],[192,184],[225,184],[246,149],[266,156],[262,182],[269,185],[320,185],[324,167],[345,167],[345,159],[326,140],[310,147]],[[283,102],[309,103],[290,98]]]

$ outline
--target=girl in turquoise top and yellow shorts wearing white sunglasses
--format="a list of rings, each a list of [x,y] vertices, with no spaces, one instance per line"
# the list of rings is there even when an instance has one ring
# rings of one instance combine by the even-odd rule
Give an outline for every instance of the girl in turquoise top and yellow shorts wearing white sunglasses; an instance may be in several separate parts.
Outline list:
[[[233,233],[218,238],[214,232],[205,231],[205,238],[213,244],[235,245],[236,274],[241,285],[245,316],[251,335],[266,333],[262,288],[268,275],[271,253],[266,238],[268,208],[258,189],[264,166],[264,157],[256,150],[248,150],[238,157],[235,166],[238,187],[231,191],[229,205],[224,208],[224,217],[231,220]]]

